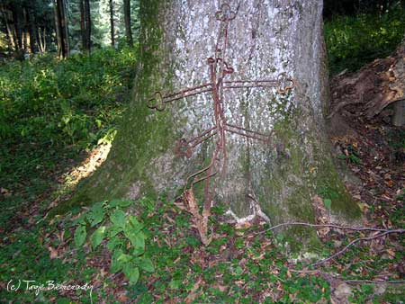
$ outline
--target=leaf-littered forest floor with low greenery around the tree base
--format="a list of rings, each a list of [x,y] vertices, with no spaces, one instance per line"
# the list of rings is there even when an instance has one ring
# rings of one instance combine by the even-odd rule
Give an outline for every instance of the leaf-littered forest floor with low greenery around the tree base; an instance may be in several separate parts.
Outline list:
[[[331,141],[337,162],[347,165],[356,176],[349,179],[347,189],[364,212],[364,226],[403,228],[405,130],[383,122],[348,123],[354,130],[352,135]],[[158,201],[143,198],[134,202],[135,210],[125,205],[143,224],[145,255],[154,264],[151,273],[140,273],[139,281],[130,284],[128,275],[110,271],[112,255],[106,240],[100,240],[101,246],[92,246],[93,239],[75,246],[77,219],[84,210],[77,208],[64,217],[45,218],[59,197],[68,192],[67,185],[90,174],[103,162],[108,148],[101,145],[85,160],[55,165],[45,172],[54,183],[40,195],[28,198],[23,207],[4,207],[0,226],[0,299],[4,302],[399,303],[405,298],[403,233],[379,237],[378,231],[320,228],[324,247],[319,261],[358,238],[370,240],[356,242],[341,255],[314,266],[300,261],[299,256],[285,255],[288,248],[283,245],[283,235],[274,237],[265,221],[254,219],[243,225],[226,222],[221,206],[213,209],[211,217],[214,238],[209,246],[202,246],[183,202],[167,201],[164,195]],[[320,200],[326,195],[319,194]],[[1,188],[0,195],[11,202],[15,194]],[[319,222],[329,223],[328,212]],[[35,281],[32,286],[49,281],[87,282],[93,288],[37,288],[36,292],[27,290],[27,280]]]

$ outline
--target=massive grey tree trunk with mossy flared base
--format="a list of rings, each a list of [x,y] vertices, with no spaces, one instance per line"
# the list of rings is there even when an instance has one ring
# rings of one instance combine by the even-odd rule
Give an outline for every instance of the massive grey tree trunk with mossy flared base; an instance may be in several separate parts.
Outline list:
[[[311,201],[317,192],[330,193],[333,220],[359,216],[329,154],[323,118],[328,72],[322,1],[247,0],[229,5],[233,13],[224,17],[219,11],[226,11],[227,5],[220,7],[213,0],[141,3],[133,103],[108,160],[71,202],[136,199],[163,191],[176,195],[187,182],[195,181],[188,177],[214,157],[211,168],[195,178],[219,173],[211,176],[208,191],[203,189],[207,180],[197,183],[195,196],[205,203],[208,196],[208,203],[212,199],[227,204],[229,214],[237,219],[264,213],[272,224],[313,222]],[[226,22],[216,17],[232,19],[218,44],[222,53],[215,46],[220,24]],[[207,58],[217,60],[208,60],[209,66]],[[228,64],[223,66],[224,81],[277,79],[284,73],[293,77],[295,85],[285,92],[282,88],[292,85],[289,81],[266,88],[251,87],[258,83],[228,83],[250,87],[221,89],[225,83],[219,80],[213,85],[212,76],[220,79],[218,69],[224,61]],[[204,94],[178,98],[165,103],[165,109],[158,102],[160,95],[168,101],[171,97],[166,94],[207,83],[211,86],[202,88],[209,91]],[[164,111],[148,108],[155,105]],[[179,139],[190,140],[212,127],[216,134],[195,148],[180,145]],[[317,239],[315,233],[294,232],[307,244]]]

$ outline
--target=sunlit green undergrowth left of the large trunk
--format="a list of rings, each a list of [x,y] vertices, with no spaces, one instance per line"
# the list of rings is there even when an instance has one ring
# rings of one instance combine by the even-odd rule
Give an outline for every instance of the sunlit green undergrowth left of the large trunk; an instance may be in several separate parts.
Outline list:
[[[49,192],[83,152],[112,141],[130,99],[135,53],[98,49],[0,66],[0,222]]]

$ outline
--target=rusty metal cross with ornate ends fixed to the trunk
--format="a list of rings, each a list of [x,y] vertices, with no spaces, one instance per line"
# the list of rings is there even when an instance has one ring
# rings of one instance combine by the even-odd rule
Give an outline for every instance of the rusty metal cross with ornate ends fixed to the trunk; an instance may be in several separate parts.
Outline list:
[[[215,13],[216,19],[220,22],[220,33],[215,45],[215,56],[207,59],[209,67],[210,81],[202,85],[185,88],[175,93],[161,94],[157,91],[152,98],[148,100],[148,107],[157,111],[164,111],[166,103],[172,103],[176,100],[191,97],[197,94],[211,93],[213,100],[213,118],[214,126],[209,130],[203,131],[193,139],[180,139],[177,142],[176,152],[178,156],[185,156],[190,158],[193,154],[193,148],[200,145],[202,142],[216,137],[216,148],[213,152],[211,162],[202,170],[190,175],[187,178],[186,185],[190,184],[193,188],[195,183],[205,181],[205,203],[204,207],[209,208],[211,205],[211,191],[210,179],[212,176],[220,173],[221,176],[225,174],[228,162],[227,149],[226,149],[226,133],[238,134],[248,139],[256,139],[263,142],[268,142],[269,138],[266,134],[254,130],[247,130],[245,128],[230,124],[225,118],[224,112],[224,91],[230,89],[244,89],[244,88],[277,88],[279,94],[285,94],[293,89],[293,78],[281,74],[277,79],[257,79],[257,80],[225,80],[227,76],[234,73],[233,67],[226,61],[226,50],[228,47],[228,30],[229,22],[235,19],[238,13],[232,11],[229,4],[221,4],[220,11]],[[216,168],[216,164],[218,165]],[[204,174],[205,173],[205,174]],[[202,177],[199,177],[204,174]]]

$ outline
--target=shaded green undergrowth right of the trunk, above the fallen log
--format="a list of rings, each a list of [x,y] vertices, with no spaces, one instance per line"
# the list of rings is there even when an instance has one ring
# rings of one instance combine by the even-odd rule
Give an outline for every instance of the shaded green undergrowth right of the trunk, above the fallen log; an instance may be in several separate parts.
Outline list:
[[[329,71],[356,71],[375,58],[385,58],[404,37],[405,9],[392,7],[386,13],[336,15],[325,22]]]

